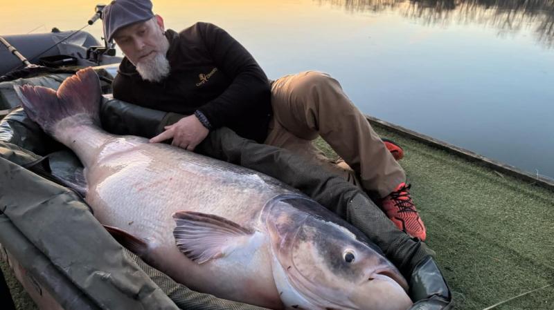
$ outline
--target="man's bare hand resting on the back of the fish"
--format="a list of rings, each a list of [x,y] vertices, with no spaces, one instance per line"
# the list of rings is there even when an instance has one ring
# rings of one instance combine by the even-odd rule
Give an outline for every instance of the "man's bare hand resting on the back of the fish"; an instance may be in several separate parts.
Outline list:
[[[150,143],[158,143],[173,138],[171,145],[179,146],[188,151],[194,151],[210,132],[198,120],[196,115],[183,117],[179,122],[164,127],[166,131],[150,139]]]

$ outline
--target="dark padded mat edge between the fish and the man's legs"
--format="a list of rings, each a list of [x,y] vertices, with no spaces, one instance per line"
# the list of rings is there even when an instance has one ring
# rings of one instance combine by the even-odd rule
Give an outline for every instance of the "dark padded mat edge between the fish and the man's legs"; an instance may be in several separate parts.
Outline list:
[[[359,188],[283,148],[258,144],[220,128],[211,132],[197,151],[298,188],[367,235],[407,279],[420,260],[434,255],[425,243],[398,230]]]

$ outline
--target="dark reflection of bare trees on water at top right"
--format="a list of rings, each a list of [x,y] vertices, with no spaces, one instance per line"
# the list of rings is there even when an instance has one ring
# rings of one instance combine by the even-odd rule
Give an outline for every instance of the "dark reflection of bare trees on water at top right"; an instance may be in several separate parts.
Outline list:
[[[554,0],[314,0],[348,12],[395,10],[429,25],[479,23],[500,35],[534,28],[537,41],[554,47]]]

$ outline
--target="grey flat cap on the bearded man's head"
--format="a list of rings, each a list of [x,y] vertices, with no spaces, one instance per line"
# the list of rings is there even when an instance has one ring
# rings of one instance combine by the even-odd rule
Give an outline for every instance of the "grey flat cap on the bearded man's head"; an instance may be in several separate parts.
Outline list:
[[[150,0],[114,0],[102,10],[104,37],[107,41],[114,39],[120,28],[139,21],[148,21],[154,17]]]

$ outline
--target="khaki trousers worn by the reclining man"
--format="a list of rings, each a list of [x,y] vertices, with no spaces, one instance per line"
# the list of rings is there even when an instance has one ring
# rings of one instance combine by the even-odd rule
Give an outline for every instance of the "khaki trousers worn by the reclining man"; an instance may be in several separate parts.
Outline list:
[[[271,84],[271,106],[274,116],[265,144],[315,159],[380,197],[405,182],[402,167],[339,82],[329,75],[307,71],[277,79]],[[312,144],[319,135],[346,164],[333,162]]]

